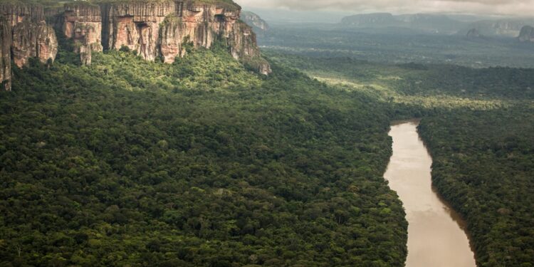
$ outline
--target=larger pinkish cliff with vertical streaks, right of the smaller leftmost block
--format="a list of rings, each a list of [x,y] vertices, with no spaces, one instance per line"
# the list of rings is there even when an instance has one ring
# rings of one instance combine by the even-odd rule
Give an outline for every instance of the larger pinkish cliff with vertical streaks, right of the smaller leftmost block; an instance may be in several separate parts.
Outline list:
[[[256,35],[239,21],[241,7],[231,1],[108,1],[67,4],[62,29],[75,52],[90,64],[92,51],[136,51],[147,61],[173,63],[185,47],[210,48],[225,42],[234,58],[260,73],[271,72],[261,58]]]

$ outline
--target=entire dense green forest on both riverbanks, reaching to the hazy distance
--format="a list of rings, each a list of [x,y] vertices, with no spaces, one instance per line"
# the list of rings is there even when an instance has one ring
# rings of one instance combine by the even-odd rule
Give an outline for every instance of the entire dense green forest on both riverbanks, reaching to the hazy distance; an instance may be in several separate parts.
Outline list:
[[[382,174],[389,123],[412,117],[478,265],[532,266],[534,69],[444,64],[531,66],[530,44],[345,33],[268,33],[268,77],[220,43],[80,66],[60,40],[55,63],[14,67],[0,266],[404,266]]]

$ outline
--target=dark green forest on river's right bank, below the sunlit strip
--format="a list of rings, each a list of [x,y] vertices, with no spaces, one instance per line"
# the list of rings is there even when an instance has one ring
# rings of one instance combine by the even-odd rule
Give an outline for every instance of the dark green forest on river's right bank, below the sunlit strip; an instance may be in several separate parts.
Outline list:
[[[426,117],[432,182],[468,222],[481,266],[534,264],[534,108]]]

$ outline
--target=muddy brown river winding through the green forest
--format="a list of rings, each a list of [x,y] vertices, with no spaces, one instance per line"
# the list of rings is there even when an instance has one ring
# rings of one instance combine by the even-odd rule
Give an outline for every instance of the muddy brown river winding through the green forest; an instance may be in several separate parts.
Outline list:
[[[407,214],[406,266],[476,267],[464,222],[432,189],[432,159],[419,139],[418,123],[392,125],[393,155],[384,174]]]

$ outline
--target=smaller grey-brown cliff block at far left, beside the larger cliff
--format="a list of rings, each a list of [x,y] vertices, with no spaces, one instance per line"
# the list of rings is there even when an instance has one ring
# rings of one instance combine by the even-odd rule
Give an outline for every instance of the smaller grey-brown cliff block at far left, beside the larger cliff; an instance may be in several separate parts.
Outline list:
[[[58,41],[53,28],[46,24],[42,6],[0,4],[0,16],[0,80],[5,90],[11,90],[11,61],[19,68],[29,58],[53,61]]]

